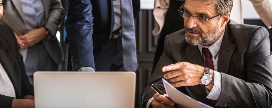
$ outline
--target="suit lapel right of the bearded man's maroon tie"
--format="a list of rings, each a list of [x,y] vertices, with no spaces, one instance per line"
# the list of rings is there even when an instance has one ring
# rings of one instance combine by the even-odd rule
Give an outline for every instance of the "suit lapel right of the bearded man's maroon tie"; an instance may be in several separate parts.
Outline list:
[[[233,51],[236,48],[233,34],[229,28],[229,24],[226,25],[225,34],[220,46],[218,57],[218,72],[228,73],[229,62],[232,57]]]

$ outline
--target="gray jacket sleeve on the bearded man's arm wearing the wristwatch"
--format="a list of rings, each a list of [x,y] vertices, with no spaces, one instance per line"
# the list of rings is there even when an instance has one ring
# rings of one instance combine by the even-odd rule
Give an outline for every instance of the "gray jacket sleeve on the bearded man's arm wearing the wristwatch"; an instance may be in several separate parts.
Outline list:
[[[215,106],[270,108],[272,99],[272,54],[268,32],[264,27],[252,34],[245,53],[245,77],[241,80],[221,73],[221,93]]]

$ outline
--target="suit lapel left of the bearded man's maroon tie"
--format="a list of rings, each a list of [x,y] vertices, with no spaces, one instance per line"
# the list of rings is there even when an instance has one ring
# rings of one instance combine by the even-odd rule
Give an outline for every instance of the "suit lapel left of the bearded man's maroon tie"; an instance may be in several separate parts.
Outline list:
[[[201,53],[198,49],[198,46],[188,46],[186,49],[186,54],[191,64],[197,64],[200,66],[204,66],[203,57],[201,57]]]

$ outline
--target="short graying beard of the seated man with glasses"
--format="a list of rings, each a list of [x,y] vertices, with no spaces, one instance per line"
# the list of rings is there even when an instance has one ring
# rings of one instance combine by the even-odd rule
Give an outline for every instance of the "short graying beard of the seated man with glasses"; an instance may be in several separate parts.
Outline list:
[[[209,31],[207,34],[204,34],[201,30],[198,30],[196,28],[187,28],[185,27],[185,40],[188,44],[197,46],[197,45],[209,45],[211,43],[214,43],[216,40],[216,37],[218,36],[219,33],[219,27],[220,23],[215,27],[215,30]],[[194,40],[195,37],[188,35],[187,31],[193,31],[196,32],[200,35],[197,40]]]

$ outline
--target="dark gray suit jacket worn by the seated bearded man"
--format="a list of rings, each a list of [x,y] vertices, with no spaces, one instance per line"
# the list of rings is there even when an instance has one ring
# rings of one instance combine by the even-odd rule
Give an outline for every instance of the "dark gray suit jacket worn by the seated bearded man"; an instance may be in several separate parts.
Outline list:
[[[218,72],[221,73],[221,94],[217,101],[207,99],[205,87],[183,86],[177,88],[193,99],[212,107],[271,107],[272,102],[272,54],[268,31],[264,27],[240,25],[230,20],[226,24],[218,58]],[[204,66],[203,57],[197,46],[185,41],[184,29],[165,38],[164,52],[160,57],[148,86],[142,92],[142,106],[156,93],[151,89],[155,84],[164,90],[163,66],[177,62],[190,62]],[[168,80],[168,82],[170,82]]]

